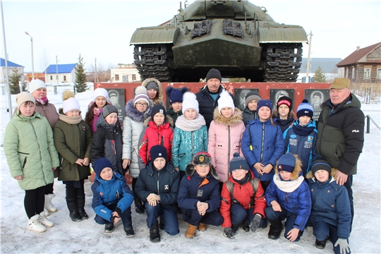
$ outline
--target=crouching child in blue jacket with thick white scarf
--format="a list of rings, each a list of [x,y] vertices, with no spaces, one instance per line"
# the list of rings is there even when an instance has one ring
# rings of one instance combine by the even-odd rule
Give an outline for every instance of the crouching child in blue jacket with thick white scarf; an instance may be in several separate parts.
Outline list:
[[[282,219],[286,219],[284,237],[289,241],[299,241],[310,216],[311,195],[298,155],[280,157],[274,179],[266,190],[266,201],[265,214],[271,222],[269,238],[279,238]]]

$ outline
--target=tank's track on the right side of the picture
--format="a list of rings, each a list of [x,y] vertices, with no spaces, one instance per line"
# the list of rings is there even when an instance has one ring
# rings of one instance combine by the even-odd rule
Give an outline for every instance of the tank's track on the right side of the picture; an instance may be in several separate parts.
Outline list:
[[[301,43],[267,44],[264,82],[296,82],[301,68]]]

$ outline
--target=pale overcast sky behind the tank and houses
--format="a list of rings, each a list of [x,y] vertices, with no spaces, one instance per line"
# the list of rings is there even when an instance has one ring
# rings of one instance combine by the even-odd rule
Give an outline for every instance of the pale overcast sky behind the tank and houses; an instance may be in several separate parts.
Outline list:
[[[192,4],[193,0],[188,0]],[[250,0],[265,6],[278,23],[301,25],[312,31],[311,57],[344,59],[357,46],[381,42],[380,0]],[[6,49],[9,61],[32,71],[29,32],[33,37],[35,72],[49,64],[76,63],[81,54],[86,66],[133,63],[129,46],[136,28],[155,26],[173,18],[179,0],[167,1],[9,1],[3,0]],[[0,28],[2,30],[2,28]],[[303,57],[308,45],[303,44]],[[1,37],[1,57],[4,44]]]

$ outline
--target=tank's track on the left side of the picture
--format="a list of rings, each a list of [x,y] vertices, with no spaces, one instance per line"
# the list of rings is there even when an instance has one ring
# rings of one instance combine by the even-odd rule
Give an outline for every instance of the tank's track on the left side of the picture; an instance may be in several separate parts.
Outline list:
[[[156,78],[159,81],[171,81],[167,61],[171,57],[170,49],[168,44],[135,45],[133,58],[143,80]]]

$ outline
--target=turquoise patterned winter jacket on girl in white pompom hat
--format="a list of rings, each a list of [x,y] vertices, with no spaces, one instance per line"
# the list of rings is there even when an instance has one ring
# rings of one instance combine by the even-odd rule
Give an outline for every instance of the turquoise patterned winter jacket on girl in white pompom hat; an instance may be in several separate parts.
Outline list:
[[[202,117],[200,114],[198,116]],[[207,128],[202,126],[195,131],[174,129],[174,143],[172,145],[172,164],[180,171],[186,171],[193,157],[198,152],[207,152]]]

